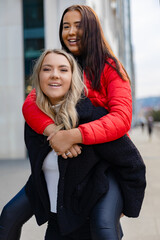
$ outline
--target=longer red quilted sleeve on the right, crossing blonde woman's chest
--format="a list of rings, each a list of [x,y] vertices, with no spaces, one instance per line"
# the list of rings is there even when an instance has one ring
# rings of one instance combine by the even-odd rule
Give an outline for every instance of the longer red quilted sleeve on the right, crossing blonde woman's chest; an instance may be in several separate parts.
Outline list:
[[[104,72],[102,87],[105,88],[109,114],[99,120],[82,124],[79,130],[84,144],[110,142],[125,135],[131,127],[132,96],[129,81],[124,81],[110,66]]]

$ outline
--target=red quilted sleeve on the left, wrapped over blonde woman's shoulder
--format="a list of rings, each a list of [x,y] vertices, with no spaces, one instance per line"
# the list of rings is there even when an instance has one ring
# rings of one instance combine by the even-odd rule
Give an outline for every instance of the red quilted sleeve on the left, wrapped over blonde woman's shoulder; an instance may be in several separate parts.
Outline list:
[[[36,105],[35,89],[27,96],[22,107],[22,112],[28,125],[39,134],[43,134],[44,129],[48,125],[53,124],[53,120],[44,114]]]

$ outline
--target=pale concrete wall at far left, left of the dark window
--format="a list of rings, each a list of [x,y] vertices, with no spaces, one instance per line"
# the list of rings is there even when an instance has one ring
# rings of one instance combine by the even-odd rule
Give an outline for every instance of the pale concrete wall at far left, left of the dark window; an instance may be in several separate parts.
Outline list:
[[[0,1],[0,159],[25,157],[21,2]]]

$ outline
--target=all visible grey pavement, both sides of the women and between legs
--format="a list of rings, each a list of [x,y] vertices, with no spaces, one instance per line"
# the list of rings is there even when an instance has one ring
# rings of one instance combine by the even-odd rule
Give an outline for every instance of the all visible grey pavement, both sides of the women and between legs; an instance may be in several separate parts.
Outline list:
[[[147,188],[138,218],[121,219],[123,240],[160,239],[160,133],[154,130],[149,139],[147,130],[131,130],[131,139],[138,147],[147,167]],[[30,174],[28,160],[0,161],[0,210],[23,187]],[[22,240],[43,240],[46,224],[39,227],[32,217],[24,226]]]

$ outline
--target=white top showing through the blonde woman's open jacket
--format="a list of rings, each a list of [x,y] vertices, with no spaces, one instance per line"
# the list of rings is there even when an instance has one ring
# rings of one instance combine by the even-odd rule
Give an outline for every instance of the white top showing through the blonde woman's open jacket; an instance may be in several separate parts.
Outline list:
[[[47,183],[50,199],[50,211],[57,212],[57,187],[59,180],[58,156],[54,150],[48,153],[44,159],[42,170]]]

